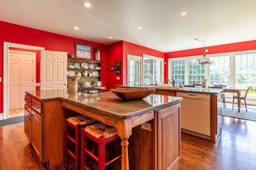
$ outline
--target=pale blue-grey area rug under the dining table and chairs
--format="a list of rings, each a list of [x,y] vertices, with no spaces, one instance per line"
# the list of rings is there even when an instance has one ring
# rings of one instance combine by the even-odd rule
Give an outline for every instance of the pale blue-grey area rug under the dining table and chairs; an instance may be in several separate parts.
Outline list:
[[[223,116],[256,121],[256,106],[247,105],[248,112],[246,112],[245,106],[242,105],[242,107],[240,108],[240,112],[238,112],[237,105],[234,105],[234,110],[232,110],[232,104],[227,103],[226,105],[227,107],[225,109],[222,105]]]

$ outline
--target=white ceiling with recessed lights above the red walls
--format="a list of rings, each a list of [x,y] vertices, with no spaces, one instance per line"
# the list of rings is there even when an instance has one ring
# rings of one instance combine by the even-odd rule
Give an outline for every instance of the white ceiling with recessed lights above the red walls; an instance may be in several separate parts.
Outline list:
[[[182,12],[189,14],[180,17]],[[0,20],[162,52],[203,47],[196,38],[205,39],[206,47],[256,40],[256,0],[0,0]]]

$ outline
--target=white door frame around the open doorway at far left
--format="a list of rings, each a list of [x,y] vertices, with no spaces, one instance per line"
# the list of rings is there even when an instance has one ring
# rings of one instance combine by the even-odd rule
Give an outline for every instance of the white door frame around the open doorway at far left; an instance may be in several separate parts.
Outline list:
[[[21,49],[31,49],[31,50],[44,50],[44,47],[37,47],[32,45],[16,44],[4,42],[4,74],[3,74],[3,84],[4,84],[4,95],[3,95],[3,119],[8,119],[9,112],[9,47],[21,48]]]

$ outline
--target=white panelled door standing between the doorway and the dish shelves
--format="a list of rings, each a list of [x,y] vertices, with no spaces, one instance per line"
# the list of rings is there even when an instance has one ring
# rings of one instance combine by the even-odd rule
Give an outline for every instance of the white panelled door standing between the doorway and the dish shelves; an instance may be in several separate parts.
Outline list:
[[[41,51],[40,90],[67,88],[68,53]]]

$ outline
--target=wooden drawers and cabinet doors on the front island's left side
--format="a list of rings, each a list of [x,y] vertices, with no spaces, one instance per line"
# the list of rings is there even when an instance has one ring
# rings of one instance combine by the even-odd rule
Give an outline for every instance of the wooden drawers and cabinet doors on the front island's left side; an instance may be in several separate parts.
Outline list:
[[[25,95],[24,132],[42,161],[42,103]]]

